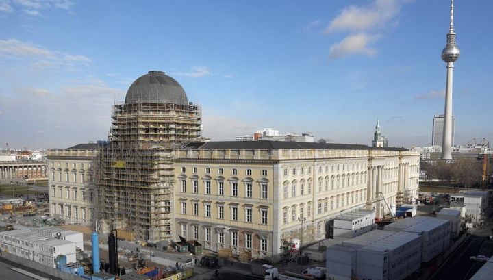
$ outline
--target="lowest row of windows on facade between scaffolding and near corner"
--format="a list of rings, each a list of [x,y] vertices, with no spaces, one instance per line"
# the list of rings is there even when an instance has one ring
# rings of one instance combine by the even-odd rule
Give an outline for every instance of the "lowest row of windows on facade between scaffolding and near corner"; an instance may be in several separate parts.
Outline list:
[[[187,231],[188,226],[186,224],[181,225],[181,236],[184,236],[184,238],[187,238]],[[252,233],[243,233],[244,234],[244,248],[245,249],[252,249]],[[238,246],[238,231],[231,231],[230,233],[231,236],[231,245],[232,246]],[[192,225],[192,238],[195,240],[199,240],[199,226],[197,225]],[[212,235],[211,235],[211,228],[210,227],[205,227],[205,241],[206,242],[211,242],[212,241]],[[216,233],[216,242],[218,244],[225,244],[225,233],[224,231],[220,231]],[[259,250],[266,252],[268,249],[268,244],[267,244],[267,239],[265,238],[260,238],[260,246]]]

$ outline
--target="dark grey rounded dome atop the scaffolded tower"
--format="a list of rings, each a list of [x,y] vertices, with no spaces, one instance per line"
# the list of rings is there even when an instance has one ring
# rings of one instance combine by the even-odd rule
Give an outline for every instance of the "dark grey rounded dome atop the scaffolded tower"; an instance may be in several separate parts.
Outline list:
[[[188,105],[185,90],[172,77],[161,71],[149,71],[131,84],[125,104],[173,103]]]

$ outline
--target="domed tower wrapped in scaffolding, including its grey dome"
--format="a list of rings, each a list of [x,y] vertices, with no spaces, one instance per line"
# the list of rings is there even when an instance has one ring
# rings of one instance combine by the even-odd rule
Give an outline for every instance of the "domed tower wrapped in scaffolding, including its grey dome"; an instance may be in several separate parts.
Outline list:
[[[156,242],[173,232],[174,151],[201,136],[201,107],[180,84],[150,71],[114,105],[108,142],[99,144],[95,185],[100,231],[128,229]]]

